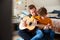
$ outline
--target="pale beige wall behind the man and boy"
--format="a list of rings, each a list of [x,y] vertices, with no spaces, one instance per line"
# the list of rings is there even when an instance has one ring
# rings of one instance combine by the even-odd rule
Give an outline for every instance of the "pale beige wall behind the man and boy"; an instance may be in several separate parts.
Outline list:
[[[25,8],[28,10],[28,5],[30,4],[34,4],[37,9],[44,6],[47,8],[48,12],[51,12],[54,9],[60,10],[60,0],[23,0],[21,5],[16,5],[16,1],[13,0],[13,15],[20,14]],[[25,7],[25,5],[27,5],[27,7]],[[18,7],[17,12],[16,7]]]

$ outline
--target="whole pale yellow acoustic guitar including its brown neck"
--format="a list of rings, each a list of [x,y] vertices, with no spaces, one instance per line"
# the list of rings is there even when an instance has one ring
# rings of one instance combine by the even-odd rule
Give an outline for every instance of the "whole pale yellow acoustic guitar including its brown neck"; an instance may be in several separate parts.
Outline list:
[[[42,29],[45,26],[45,25],[42,25],[42,24],[37,24],[37,20],[34,19],[33,17],[30,18],[30,17],[26,16],[24,19],[26,20],[25,29],[34,30],[35,27],[38,27],[38,28]]]

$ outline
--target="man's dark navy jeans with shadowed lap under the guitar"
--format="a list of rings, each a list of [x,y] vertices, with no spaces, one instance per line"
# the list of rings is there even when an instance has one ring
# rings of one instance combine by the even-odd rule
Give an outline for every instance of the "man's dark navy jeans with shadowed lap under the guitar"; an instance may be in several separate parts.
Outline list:
[[[32,38],[32,34],[28,30],[19,30],[18,35],[22,37],[24,40],[30,40]]]

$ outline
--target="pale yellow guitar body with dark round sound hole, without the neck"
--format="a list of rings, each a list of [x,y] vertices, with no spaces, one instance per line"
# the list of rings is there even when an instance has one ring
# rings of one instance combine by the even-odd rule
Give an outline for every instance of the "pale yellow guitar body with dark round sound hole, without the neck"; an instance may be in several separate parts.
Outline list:
[[[32,24],[33,24],[33,22],[34,22],[34,18],[30,18],[29,16],[26,16],[26,17],[24,17],[23,18],[23,20],[24,21],[26,21],[26,29],[28,29],[28,30],[34,30],[35,29],[35,26],[33,26]]]

